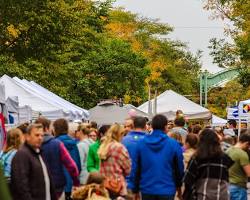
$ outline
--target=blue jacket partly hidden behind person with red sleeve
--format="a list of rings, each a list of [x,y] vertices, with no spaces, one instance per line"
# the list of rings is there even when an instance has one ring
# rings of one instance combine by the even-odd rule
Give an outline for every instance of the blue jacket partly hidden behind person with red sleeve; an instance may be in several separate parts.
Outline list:
[[[79,155],[79,151],[77,148],[77,141],[67,134],[60,135],[57,137],[57,139],[63,142],[70,156],[75,161],[79,172],[81,172],[81,160],[80,160],[80,155]],[[65,167],[64,167],[64,175],[66,177],[65,192],[71,192],[73,182],[72,182],[71,176],[69,175]]]

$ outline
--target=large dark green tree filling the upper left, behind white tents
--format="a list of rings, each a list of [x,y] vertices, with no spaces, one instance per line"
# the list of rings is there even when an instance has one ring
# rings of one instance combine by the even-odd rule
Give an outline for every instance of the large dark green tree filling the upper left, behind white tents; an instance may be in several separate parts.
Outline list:
[[[0,74],[35,80],[86,108],[143,98],[146,59],[105,33],[111,3],[0,0]]]

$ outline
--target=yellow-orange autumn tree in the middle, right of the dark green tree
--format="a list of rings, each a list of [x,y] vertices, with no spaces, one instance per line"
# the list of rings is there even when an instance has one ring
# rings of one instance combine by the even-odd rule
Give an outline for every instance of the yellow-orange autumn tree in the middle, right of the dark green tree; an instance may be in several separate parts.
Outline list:
[[[110,13],[106,28],[147,58],[150,74],[145,81],[153,93],[170,88],[181,93],[197,92],[199,56],[185,50],[183,43],[165,39],[173,30],[169,25],[118,9]]]

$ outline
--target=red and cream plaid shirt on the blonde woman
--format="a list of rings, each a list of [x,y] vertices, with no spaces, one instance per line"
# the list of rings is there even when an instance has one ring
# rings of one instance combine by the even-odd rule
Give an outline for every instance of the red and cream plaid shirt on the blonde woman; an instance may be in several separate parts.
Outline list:
[[[131,170],[131,161],[125,146],[118,142],[112,142],[108,147],[106,160],[101,160],[100,173],[109,178],[120,179],[123,183],[122,195],[126,194],[125,176]]]

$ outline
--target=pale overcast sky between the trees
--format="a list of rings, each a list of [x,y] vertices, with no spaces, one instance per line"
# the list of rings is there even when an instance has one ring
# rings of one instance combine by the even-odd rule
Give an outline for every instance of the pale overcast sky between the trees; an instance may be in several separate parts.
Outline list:
[[[208,45],[213,37],[225,38],[224,23],[210,19],[211,13],[202,9],[202,0],[117,0],[114,5],[174,27],[170,38],[187,43],[193,53],[203,51],[203,69],[211,73],[220,70],[212,63]]]

